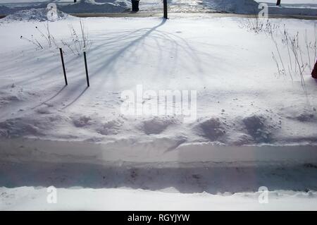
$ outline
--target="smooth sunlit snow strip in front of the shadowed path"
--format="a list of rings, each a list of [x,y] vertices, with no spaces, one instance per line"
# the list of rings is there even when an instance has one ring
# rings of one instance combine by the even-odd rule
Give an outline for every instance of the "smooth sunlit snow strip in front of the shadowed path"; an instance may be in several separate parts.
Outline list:
[[[0,188],[0,210],[316,210],[317,193],[269,192],[210,195],[150,190],[58,188],[57,202],[47,203],[46,188]]]

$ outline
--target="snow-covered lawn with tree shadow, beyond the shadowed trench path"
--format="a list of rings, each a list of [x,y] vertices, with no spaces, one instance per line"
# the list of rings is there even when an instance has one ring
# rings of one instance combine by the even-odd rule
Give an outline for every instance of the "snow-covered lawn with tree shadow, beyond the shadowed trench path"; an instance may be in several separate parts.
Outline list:
[[[316,144],[317,87],[309,68],[315,56],[313,48],[307,54],[304,42],[306,33],[314,42],[316,20],[271,20],[280,25],[274,38],[284,75],[278,74],[272,59],[272,53],[278,57],[272,38],[242,28],[248,19],[87,18],[83,21],[89,24],[92,41],[87,51],[89,88],[82,56],[59,42],[69,41],[69,25],[79,30],[79,20],[70,17],[49,23],[51,35],[66,51],[67,87],[58,49],[45,47],[38,32],[45,30],[45,22],[1,24],[2,137],[89,142],[161,139],[173,148],[194,142]],[[305,90],[294,59],[289,62],[282,44],[284,24],[290,33],[299,32],[307,63]],[[20,36],[36,38],[46,49],[37,49]],[[278,63],[282,67],[279,58]],[[143,85],[144,92],[196,90],[197,120],[124,115],[121,92],[135,92],[137,85]]]

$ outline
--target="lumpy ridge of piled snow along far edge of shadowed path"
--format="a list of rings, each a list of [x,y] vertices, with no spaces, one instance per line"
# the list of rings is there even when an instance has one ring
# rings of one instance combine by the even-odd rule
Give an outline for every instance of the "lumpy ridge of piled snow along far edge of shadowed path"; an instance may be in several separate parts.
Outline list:
[[[7,102],[17,101],[15,96],[4,99],[2,105],[8,106]],[[49,136],[52,139],[61,140],[88,140],[89,142],[107,142],[118,140],[122,135],[137,141],[135,135],[155,138],[153,135],[162,135],[175,140],[175,142],[201,141],[217,142],[225,145],[251,145],[263,143],[311,143],[317,142],[316,136],[303,133],[296,138],[284,136],[278,137],[282,132],[282,123],[279,118],[272,119],[266,114],[251,114],[247,116],[203,117],[197,122],[184,124],[177,117],[149,117],[133,121],[125,116],[104,119],[99,116],[75,114],[66,116],[58,114],[51,107],[35,109],[33,116],[8,118],[0,122],[1,138],[36,138]],[[23,110],[21,110],[23,113]],[[304,123],[302,126],[310,126],[316,123],[314,111],[300,112],[285,117],[284,126],[287,123]],[[36,115],[36,116],[35,116]],[[67,126],[75,130],[69,134],[60,126]],[[306,124],[305,124],[306,123]],[[47,129],[51,128],[51,129]],[[58,133],[56,130],[58,129]],[[176,130],[182,129],[182,135],[175,135]],[[85,130],[85,132],[83,132]],[[310,132],[313,132],[311,130]],[[150,136],[149,136],[150,135]],[[305,137],[305,138],[302,138]]]

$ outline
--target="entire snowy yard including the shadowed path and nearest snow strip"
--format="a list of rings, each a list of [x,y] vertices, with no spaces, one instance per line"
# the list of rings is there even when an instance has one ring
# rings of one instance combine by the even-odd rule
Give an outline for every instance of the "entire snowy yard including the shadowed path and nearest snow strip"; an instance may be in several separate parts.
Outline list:
[[[316,210],[317,22],[269,22],[1,19],[0,209]],[[197,93],[193,117],[123,114],[140,87]]]

